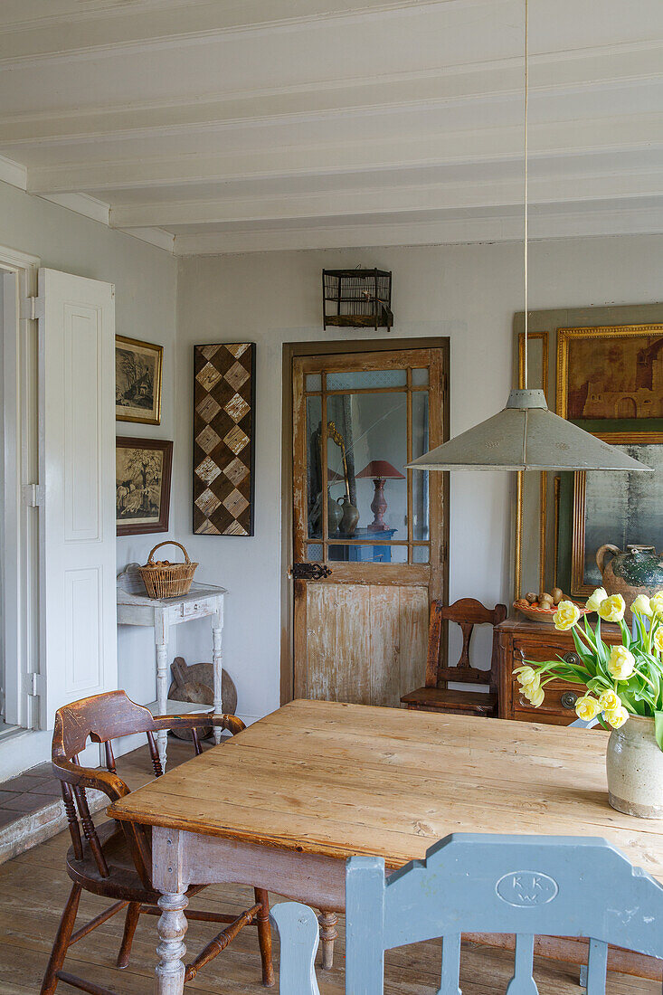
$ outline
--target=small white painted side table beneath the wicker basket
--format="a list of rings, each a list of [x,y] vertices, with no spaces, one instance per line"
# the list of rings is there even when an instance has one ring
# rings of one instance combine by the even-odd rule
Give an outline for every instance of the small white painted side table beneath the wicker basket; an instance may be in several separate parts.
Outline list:
[[[223,711],[221,697],[221,635],[223,632],[224,587],[191,585],[188,594],[177,598],[149,598],[137,563],[129,563],[117,576],[117,625],[141,625],[154,629],[156,646],[156,705],[159,714],[167,713],[168,696],[168,635],[170,627],[191,619],[212,620],[212,666],[214,669],[214,711]],[[182,711],[190,710],[182,702]],[[156,734],[161,767],[166,766],[168,733]],[[221,730],[214,729],[214,741],[219,742]]]

